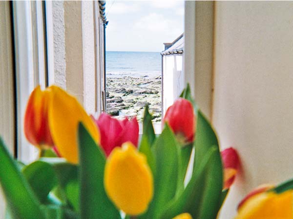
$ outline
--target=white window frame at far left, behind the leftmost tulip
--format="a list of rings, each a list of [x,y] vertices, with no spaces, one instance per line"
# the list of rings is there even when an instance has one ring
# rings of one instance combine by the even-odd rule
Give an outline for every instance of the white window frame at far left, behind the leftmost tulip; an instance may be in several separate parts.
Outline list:
[[[35,13],[32,13],[35,11]],[[35,86],[45,88],[42,1],[14,1],[14,38],[17,95],[17,157],[29,163],[38,155],[23,132],[26,103]]]

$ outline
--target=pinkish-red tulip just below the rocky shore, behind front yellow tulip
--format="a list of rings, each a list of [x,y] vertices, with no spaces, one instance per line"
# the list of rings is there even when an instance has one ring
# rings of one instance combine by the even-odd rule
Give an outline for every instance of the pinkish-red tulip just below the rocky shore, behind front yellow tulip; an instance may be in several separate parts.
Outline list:
[[[131,142],[134,146],[138,145],[138,122],[136,117],[128,120],[118,120],[106,113],[102,113],[96,124],[101,133],[101,146],[103,147],[106,156],[109,156],[111,151],[116,146],[122,146],[125,142]]]

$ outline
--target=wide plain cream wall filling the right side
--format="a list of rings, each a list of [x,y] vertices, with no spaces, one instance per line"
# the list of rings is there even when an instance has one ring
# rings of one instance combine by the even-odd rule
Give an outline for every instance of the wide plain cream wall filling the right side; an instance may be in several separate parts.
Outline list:
[[[293,178],[293,2],[215,2],[212,123],[242,171],[222,209],[262,183]]]

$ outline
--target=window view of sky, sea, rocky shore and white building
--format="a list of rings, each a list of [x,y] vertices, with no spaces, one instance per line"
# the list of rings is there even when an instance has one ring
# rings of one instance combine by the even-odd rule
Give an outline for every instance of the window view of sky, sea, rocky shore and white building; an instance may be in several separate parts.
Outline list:
[[[142,123],[148,106],[159,133],[162,110],[183,89],[184,1],[107,1],[106,16],[107,112],[117,118],[136,116]],[[175,55],[173,48],[168,55],[177,57],[166,62],[164,43],[177,37],[180,45],[174,46],[178,51],[181,46],[180,52]]]

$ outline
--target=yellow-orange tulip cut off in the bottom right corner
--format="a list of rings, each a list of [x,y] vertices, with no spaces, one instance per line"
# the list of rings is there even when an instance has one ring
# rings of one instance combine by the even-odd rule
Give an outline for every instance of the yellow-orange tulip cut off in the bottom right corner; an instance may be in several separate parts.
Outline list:
[[[293,219],[293,190],[255,195],[239,208],[235,219]]]

